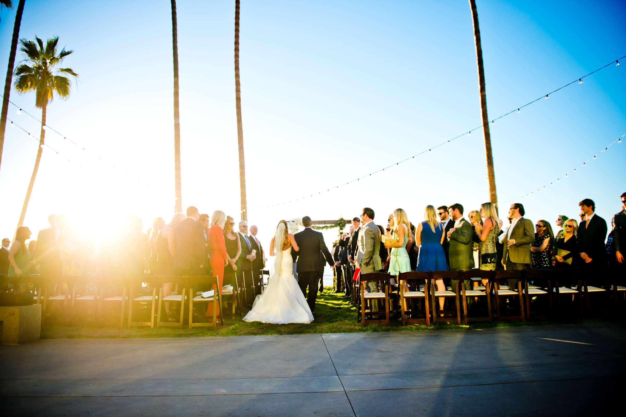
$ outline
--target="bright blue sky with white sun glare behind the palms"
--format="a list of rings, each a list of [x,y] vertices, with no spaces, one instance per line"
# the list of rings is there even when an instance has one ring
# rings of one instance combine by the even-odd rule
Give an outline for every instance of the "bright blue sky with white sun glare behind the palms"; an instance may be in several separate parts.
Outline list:
[[[478,1],[490,119],[626,55],[621,1]],[[0,68],[14,11],[0,23]],[[239,218],[233,71],[234,1],[179,1],[183,206]],[[20,36],[58,35],[80,74],[67,101],[48,107],[61,137],[46,142],[26,224],[68,213],[93,230],[128,213],[173,214],[172,41],[167,1],[27,1]],[[242,1],[241,83],[249,221],[269,243],[282,218],[377,218],[426,204],[488,200],[482,132],[316,198],[295,201],[389,166],[481,125],[469,4],[448,2]],[[21,56],[18,56],[18,60]],[[625,63],[626,64],[626,63]],[[626,133],[626,66],[611,65],[491,127],[498,198],[526,216],[574,217],[592,198],[610,221],[626,191],[626,144],[582,161]],[[11,100],[40,117],[34,95]],[[38,124],[9,107],[29,131]],[[7,128],[0,169],[0,233],[13,235],[36,142]],[[106,162],[104,162],[106,161]],[[111,166],[116,168],[112,169]],[[79,167],[80,166],[80,167]],[[128,175],[125,175],[128,172]],[[151,184],[147,187],[146,184]],[[162,191],[157,191],[157,189]],[[292,200],[282,206],[257,209]],[[266,244],[267,244],[266,243]]]

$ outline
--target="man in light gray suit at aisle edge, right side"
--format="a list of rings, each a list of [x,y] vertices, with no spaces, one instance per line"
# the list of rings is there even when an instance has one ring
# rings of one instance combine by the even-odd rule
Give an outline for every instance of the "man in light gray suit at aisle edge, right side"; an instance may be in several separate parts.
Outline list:
[[[361,273],[377,272],[382,269],[381,256],[379,255],[381,230],[374,224],[374,210],[369,207],[363,209],[361,224],[356,263],[361,268]],[[378,292],[377,281],[367,281],[366,285],[368,292]],[[375,311],[379,311],[378,300],[372,300],[372,312]]]

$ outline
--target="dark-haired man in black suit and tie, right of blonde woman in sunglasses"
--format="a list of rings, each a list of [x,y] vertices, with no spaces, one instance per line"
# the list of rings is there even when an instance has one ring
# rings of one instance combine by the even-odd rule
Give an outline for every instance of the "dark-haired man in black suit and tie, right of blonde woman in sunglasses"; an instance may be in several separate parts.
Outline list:
[[[578,226],[576,243],[580,258],[584,261],[587,269],[601,268],[607,265],[607,257],[604,241],[607,238],[607,222],[594,213],[595,203],[592,199],[585,198],[578,203],[580,213],[586,216]]]

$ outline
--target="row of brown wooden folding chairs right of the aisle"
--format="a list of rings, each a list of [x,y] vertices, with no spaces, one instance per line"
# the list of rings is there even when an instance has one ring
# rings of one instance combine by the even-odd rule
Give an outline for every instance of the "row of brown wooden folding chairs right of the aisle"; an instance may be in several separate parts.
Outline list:
[[[465,324],[478,321],[498,322],[503,320],[531,320],[554,317],[554,305],[558,304],[559,310],[562,298],[572,300],[578,297],[579,312],[578,318],[582,319],[585,309],[583,300],[587,304],[587,311],[592,310],[590,294],[592,293],[613,293],[615,300],[615,310],[619,310],[620,298],[626,295],[626,287],[618,284],[616,275],[610,275],[608,270],[598,270],[598,282],[604,282],[604,287],[594,287],[587,284],[590,277],[588,272],[583,273],[577,269],[529,269],[529,270],[498,270],[483,271],[469,270],[464,272],[456,271],[435,271],[435,272],[404,272],[398,277],[387,273],[366,273],[359,278],[358,287],[355,285],[357,297],[360,297],[358,305],[358,320],[365,326],[367,323],[382,323],[389,325],[391,315],[390,295],[396,295],[398,301],[398,314],[403,325],[407,323],[424,322],[430,325],[439,322],[456,321],[461,324],[461,305],[463,307],[463,320]],[[404,285],[393,287],[391,279],[408,284],[409,290],[405,290]],[[454,288],[438,290],[433,285],[433,280],[456,280]],[[516,288],[509,288],[508,285],[501,284],[505,280],[516,280]],[[379,283],[379,292],[368,292],[367,281]],[[470,286],[469,290],[464,285],[466,282],[477,282],[478,285]],[[485,282],[482,285],[481,282]],[[562,286],[560,283],[570,283],[575,285]],[[428,296],[429,295],[429,296]],[[563,297],[565,296],[565,297]],[[484,297],[484,298],[483,298]],[[439,298],[454,298],[456,308],[452,310],[438,311]],[[469,315],[468,300],[486,299],[485,315]],[[508,298],[509,302],[504,302]],[[384,304],[383,309],[378,312],[372,311],[372,302],[378,300]],[[545,305],[543,314],[531,312],[531,300],[539,300],[533,303],[533,307]],[[416,302],[415,302],[416,301]],[[545,301],[545,302],[543,302]],[[603,300],[608,302],[608,297]],[[417,304],[417,308],[413,305]],[[495,304],[495,311],[493,310]],[[608,304],[608,303],[607,303]],[[513,314],[508,314],[513,313]],[[444,317],[439,317],[439,314]],[[446,317],[448,315],[448,317]],[[384,319],[379,317],[384,316]],[[450,317],[452,316],[452,317]],[[432,320],[431,320],[432,319]]]

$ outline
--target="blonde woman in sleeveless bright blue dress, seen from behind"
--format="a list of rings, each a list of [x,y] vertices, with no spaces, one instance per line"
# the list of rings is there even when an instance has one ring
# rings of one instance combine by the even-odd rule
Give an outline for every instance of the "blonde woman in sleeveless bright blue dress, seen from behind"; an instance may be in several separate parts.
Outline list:
[[[434,207],[426,206],[424,209],[424,221],[418,224],[415,232],[415,244],[419,246],[418,271],[447,271],[446,253],[443,251],[443,240],[446,237],[443,224],[437,221]],[[443,280],[433,280],[438,291],[445,291]],[[444,298],[439,297],[439,310],[443,310]]]

